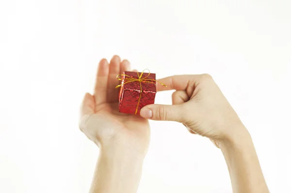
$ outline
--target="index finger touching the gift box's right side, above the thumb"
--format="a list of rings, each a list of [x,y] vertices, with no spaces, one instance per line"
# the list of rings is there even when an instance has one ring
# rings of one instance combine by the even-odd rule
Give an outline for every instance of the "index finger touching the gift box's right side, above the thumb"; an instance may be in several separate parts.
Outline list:
[[[198,75],[174,75],[159,79],[158,81],[167,87],[157,82],[157,91],[162,90],[186,90],[190,82],[195,82]]]

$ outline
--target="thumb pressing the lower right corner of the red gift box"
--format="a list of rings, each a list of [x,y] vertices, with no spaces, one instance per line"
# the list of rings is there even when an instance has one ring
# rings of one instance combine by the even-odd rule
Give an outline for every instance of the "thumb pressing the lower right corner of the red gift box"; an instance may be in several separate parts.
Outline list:
[[[181,105],[149,104],[141,109],[140,115],[146,119],[173,120],[181,122],[183,112]]]

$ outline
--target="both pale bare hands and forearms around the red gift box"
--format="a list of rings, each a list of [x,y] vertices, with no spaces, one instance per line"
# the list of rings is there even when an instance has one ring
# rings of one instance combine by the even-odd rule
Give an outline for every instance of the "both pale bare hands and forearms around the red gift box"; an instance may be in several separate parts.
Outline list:
[[[178,121],[192,134],[208,137],[227,163],[233,193],[269,193],[252,139],[208,74],[162,78],[158,91],[175,89],[172,105],[150,104],[139,115],[118,112],[117,74],[130,71],[128,60],[113,56],[98,65],[94,94],[81,105],[81,131],[99,148],[90,193],[136,193],[146,156],[147,119]]]

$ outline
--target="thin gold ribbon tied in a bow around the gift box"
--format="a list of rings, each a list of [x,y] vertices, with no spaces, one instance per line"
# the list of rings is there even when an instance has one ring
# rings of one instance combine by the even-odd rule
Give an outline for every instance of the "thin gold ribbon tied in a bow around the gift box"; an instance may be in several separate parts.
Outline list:
[[[142,82],[152,83],[152,84],[155,84],[155,82],[158,82],[158,83],[160,83],[162,86],[167,87],[166,85],[162,84],[161,82],[159,82],[159,81],[157,81],[157,80],[153,80],[153,79],[149,79],[149,78],[147,78],[147,77],[149,76],[149,74],[150,74],[149,70],[148,70],[148,74],[147,74],[145,77],[142,78],[142,76],[143,76],[143,74],[144,74],[144,72],[145,72],[146,70],[148,70],[148,69],[143,70],[143,72],[142,72],[141,74],[139,74],[139,73],[137,72],[137,77],[138,77],[138,78],[131,77],[131,76],[127,75],[127,74],[118,74],[118,75],[116,76],[116,78],[117,78],[118,80],[125,80],[126,82],[124,81],[122,84],[117,85],[115,88],[119,88],[119,87],[121,87],[122,85],[125,85],[125,84],[130,83],[130,82],[136,82],[136,81],[138,81],[138,82],[140,83],[141,94],[140,94],[140,97],[139,97],[139,99],[138,99],[138,103],[137,103],[137,106],[136,106],[136,109],[135,109],[135,114],[137,113],[138,105],[140,104],[140,100],[141,100],[142,93],[143,93],[143,90],[142,90]],[[124,78],[119,78],[119,76],[125,76],[125,77],[124,77]],[[154,82],[152,82],[152,81],[154,81]]]

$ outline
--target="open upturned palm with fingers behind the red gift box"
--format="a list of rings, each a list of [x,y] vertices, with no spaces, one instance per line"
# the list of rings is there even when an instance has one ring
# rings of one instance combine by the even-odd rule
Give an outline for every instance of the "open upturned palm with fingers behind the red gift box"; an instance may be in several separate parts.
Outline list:
[[[99,148],[118,148],[121,151],[146,155],[150,130],[147,119],[118,111],[120,81],[117,74],[130,70],[128,60],[113,56],[99,62],[94,95],[86,93],[81,105],[81,131]],[[116,149],[114,149],[116,151]]]

